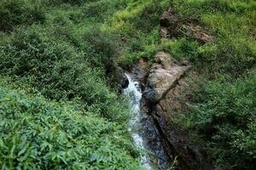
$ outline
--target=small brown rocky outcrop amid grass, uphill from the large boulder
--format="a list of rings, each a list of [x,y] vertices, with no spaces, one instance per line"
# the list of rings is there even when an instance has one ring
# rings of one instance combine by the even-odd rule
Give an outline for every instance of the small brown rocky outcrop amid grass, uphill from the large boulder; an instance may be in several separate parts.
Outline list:
[[[201,43],[212,41],[212,36],[198,20],[180,20],[173,8],[169,8],[160,18],[160,36],[186,36]]]

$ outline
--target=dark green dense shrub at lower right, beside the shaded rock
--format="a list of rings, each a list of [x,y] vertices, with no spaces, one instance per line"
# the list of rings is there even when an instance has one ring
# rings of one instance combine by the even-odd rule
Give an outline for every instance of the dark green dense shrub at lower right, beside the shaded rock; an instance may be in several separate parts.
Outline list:
[[[200,104],[193,106],[192,127],[207,140],[207,150],[221,169],[256,166],[255,96],[253,71],[234,83],[208,82]]]

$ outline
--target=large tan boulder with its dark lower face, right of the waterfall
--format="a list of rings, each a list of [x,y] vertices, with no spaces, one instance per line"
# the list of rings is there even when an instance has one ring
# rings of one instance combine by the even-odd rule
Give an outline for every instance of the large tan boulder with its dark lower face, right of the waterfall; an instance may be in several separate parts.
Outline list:
[[[172,123],[179,111],[188,109],[191,66],[187,61],[177,63],[165,52],[156,54],[154,60],[143,99],[162,133],[168,154],[172,158],[177,156],[178,169],[211,169],[200,147],[192,144],[188,133]]]

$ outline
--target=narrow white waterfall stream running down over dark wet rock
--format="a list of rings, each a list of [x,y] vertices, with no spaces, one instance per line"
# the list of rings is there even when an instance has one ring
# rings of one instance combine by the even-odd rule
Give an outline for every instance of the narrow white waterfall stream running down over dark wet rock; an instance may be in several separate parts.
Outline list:
[[[124,89],[131,107],[131,120],[129,131],[134,143],[142,151],[141,163],[148,170],[166,169],[169,166],[168,156],[161,144],[160,133],[154,126],[152,117],[143,111],[141,106],[142,91],[139,82],[125,74],[129,80],[129,86]]]

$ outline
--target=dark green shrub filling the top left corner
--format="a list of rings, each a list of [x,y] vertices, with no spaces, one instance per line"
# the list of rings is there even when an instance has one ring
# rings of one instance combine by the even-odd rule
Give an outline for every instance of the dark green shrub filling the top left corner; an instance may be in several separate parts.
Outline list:
[[[0,31],[12,31],[15,26],[40,23],[44,20],[43,10],[25,0],[0,2]]]

